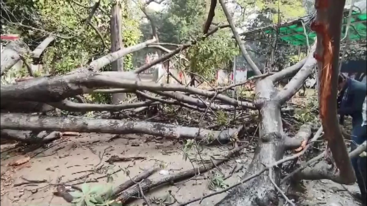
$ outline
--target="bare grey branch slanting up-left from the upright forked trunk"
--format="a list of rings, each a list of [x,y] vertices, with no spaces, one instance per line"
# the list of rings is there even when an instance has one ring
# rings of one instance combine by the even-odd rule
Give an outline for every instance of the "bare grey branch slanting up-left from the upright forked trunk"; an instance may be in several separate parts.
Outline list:
[[[228,9],[227,9],[224,1],[223,0],[219,0],[219,2],[222,5],[224,14],[226,15],[226,18],[227,18],[227,21],[229,23],[229,26],[230,26],[230,28],[232,30],[233,36],[235,36],[236,42],[237,42],[237,44],[238,44],[238,46],[239,46],[239,48],[241,50],[241,53],[242,53],[243,57],[246,59],[246,62],[250,65],[251,69],[255,72],[255,74],[260,75],[261,74],[261,71],[255,65],[254,61],[252,61],[250,55],[247,53],[246,48],[245,48],[244,44],[242,43],[242,41],[241,41],[241,39],[240,39],[240,37],[238,35],[238,32],[236,31],[235,24],[232,21],[232,17],[230,16],[229,11],[228,11]]]

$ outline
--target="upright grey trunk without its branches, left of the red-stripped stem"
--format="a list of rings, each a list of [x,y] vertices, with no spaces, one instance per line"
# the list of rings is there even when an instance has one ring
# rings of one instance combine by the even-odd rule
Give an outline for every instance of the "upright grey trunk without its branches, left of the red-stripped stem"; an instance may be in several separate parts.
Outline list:
[[[254,159],[247,169],[248,176],[255,174],[283,157],[283,126],[280,117],[280,104],[272,100],[276,89],[270,80],[257,82],[256,93],[259,95],[256,106],[259,108],[259,139]],[[246,185],[234,189],[217,205],[277,205],[277,195],[268,173],[252,179]],[[280,169],[272,170],[272,179],[279,183]]]

